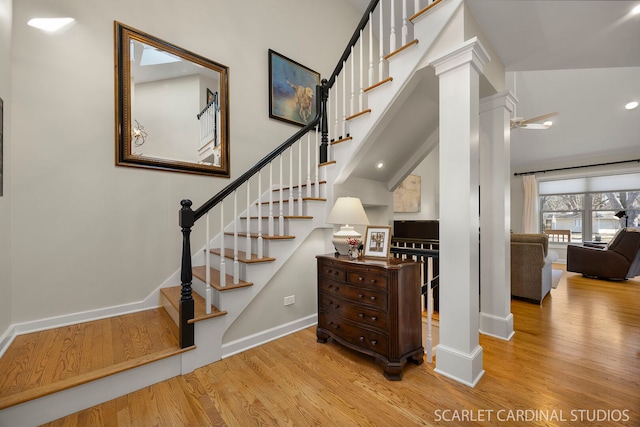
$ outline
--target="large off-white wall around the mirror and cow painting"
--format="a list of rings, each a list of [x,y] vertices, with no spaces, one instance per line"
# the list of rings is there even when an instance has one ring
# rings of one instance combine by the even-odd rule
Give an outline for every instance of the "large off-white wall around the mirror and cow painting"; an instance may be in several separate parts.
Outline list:
[[[77,22],[46,34],[25,25],[35,16]],[[10,159],[13,240],[0,247],[13,255],[13,294],[0,289],[0,304],[12,295],[11,322],[144,299],[179,268],[180,200],[197,207],[230,183],[114,166],[114,20],[229,67],[235,178],[298,129],[268,118],[268,49],[328,76],[359,18],[340,0],[15,2],[11,127],[20,143]],[[204,245],[197,230],[192,245]]]

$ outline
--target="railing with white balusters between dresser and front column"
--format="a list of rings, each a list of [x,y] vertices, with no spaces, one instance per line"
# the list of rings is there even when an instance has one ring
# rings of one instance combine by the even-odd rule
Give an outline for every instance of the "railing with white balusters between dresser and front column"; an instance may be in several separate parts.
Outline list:
[[[439,242],[431,239],[412,239],[393,237],[391,240],[391,255],[400,259],[412,259],[422,264],[421,281],[422,295],[425,296],[425,308],[427,310],[427,336],[425,338],[425,351],[427,363],[433,360],[433,292],[438,289],[440,281],[438,276],[437,260],[440,256]]]

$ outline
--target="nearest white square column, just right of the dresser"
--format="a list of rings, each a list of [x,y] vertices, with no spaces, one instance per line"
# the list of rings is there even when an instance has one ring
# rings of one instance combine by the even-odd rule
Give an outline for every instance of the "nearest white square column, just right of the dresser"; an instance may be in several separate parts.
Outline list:
[[[440,342],[435,371],[475,386],[479,343],[479,86],[489,61],[474,37],[431,65],[440,85]]]

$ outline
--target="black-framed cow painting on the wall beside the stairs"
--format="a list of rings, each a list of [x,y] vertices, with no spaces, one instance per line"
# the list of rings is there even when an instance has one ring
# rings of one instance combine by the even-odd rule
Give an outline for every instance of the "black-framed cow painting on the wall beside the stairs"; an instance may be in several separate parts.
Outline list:
[[[269,117],[298,126],[316,115],[320,74],[269,49]]]

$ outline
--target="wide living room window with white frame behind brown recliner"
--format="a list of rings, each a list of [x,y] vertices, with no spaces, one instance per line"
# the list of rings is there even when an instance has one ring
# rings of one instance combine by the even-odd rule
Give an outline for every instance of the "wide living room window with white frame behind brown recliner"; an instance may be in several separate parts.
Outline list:
[[[544,181],[539,193],[550,241],[606,243],[619,228],[640,224],[640,174]]]

